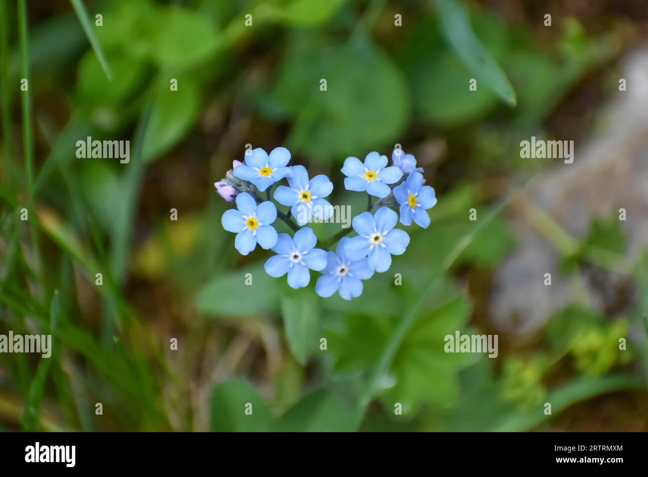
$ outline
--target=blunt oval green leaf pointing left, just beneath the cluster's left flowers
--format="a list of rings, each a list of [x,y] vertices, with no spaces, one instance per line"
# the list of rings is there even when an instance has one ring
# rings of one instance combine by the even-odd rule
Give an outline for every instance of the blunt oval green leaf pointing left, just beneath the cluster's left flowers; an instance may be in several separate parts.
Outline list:
[[[247,273],[251,273],[252,285],[246,285]],[[202,313],[248,316],[275,312],[279,296],[279,281],[270,277],[262,264],[255,264],[216,276],[198,290],[194,301]]]

